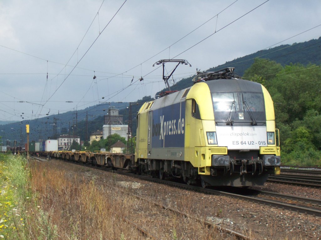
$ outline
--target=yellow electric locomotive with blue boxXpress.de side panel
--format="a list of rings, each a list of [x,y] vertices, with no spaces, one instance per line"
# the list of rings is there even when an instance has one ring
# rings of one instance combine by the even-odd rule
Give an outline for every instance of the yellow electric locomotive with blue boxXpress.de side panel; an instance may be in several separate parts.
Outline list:
[[[135,165],[206,186],[263,185],[280,172],[273,101],[234,68],[198,72],[192,87],[146,102],[137,114]]]

